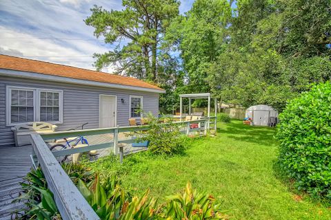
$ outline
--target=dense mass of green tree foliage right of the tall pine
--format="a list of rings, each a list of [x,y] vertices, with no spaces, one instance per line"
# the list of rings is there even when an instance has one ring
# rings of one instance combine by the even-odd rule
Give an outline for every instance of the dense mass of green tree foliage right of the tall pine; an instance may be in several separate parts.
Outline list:
[[[328,0],[197,0],[167,34],[178,39],[190,91],[281,111],[330,80],[328,8]]]

